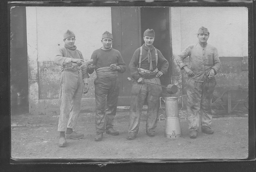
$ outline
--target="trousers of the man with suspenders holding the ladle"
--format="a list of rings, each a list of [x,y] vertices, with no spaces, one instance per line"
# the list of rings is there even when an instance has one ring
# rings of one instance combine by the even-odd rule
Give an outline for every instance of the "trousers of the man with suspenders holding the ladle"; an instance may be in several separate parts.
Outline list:
[[[159,78],[144,79],[150,83],[160,83]],[[160,106],[160,96],[162,93],[162,87],[152,84],[139,84],[133,83],[131,89],[131,106],[130,106],[130,120],[128,133],[138,134],[141,111],[144,105],[144,101],[147,98],[147,124],[146,130],[155,131],[157,127],[157,117]]]

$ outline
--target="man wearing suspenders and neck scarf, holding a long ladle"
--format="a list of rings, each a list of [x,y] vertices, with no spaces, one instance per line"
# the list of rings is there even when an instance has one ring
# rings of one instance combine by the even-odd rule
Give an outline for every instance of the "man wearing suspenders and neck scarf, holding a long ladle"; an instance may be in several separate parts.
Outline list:
[[[144,81],[161,84],[159,77],[166,74],[169,67],[169,63],[162,53],[153,46],[154,30],[147,29],[143,39],[145,43],[135,50],[129,64],[131,77],[137,82],[133,83],[131,89],[128,140],[133,140],[138,134],[141,111],[146,98],[148,104],[146,132],[148,136],[153,137],[155,135],[162,87],[147,84]]]

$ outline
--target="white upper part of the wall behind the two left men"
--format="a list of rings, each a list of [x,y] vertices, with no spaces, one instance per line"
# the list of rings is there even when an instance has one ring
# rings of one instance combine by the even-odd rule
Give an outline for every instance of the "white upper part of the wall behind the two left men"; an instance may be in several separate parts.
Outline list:
[[[36,28],[38,61],[53,60],[58,44],[64,46],[67,29],[76,35],[75,45],[85,59],[102,46],[102,34],[112,32],[111,7],[26,7],[26,11],[27,18],[36,18],[27,32]]]

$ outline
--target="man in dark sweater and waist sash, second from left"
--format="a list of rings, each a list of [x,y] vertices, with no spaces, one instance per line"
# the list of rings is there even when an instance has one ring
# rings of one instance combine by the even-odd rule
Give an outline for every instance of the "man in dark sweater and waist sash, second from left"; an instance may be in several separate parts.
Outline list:
[[[119,132],[113,129],[113,119],[116,114],[117,100],[119,95],[120,81],[118,72],[124,73],[125,62],[121,53],[111,47],[113,36],[108,31],[102,34],[102,47],[96,49],[91,59],[92,65],[88,68],[88,73],[96,71],[95,101],[96,101],[96,137],[95,141],[101,141],[103,132],[110,135],[118,135]]]

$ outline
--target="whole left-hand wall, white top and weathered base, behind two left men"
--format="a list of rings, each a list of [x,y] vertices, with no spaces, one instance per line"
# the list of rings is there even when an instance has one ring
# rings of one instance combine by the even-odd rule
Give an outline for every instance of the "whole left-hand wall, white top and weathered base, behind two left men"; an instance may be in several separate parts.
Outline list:
[[[100,11],[100,12],[99,12]],[[63,34],[67,29],[76,35],[75,45],[85,59],[102,46],[105,31],[112,32],[111,7],[26,7],[29,112],[40,107],[58,106],[60,72],[53,58],[64,46]],[[82,104],[94,104],[95,74],[90,75],[90,91],[83,95]]]

